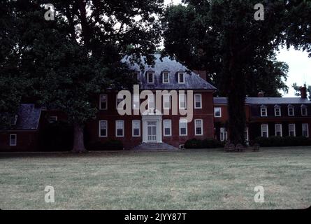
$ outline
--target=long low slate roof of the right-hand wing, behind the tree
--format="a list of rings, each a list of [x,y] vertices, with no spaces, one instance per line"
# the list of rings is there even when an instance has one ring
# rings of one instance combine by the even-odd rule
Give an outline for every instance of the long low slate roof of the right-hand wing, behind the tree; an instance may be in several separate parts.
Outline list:
[[[227,104],[226,97],[214,97],[214,104]],[[311,104],[301,97],[247,97],[245,104]]]

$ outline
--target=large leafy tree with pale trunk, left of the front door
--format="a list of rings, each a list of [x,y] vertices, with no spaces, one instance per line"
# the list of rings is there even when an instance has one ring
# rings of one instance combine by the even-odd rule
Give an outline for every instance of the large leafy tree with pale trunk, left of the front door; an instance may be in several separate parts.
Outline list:
[[[45,20],[42,3],[55,7]],[[95,118],[96,94],[131,87],[126,55],[152,64],[159,44],[157,1],[16,1],[20,71],[31,80],[24,98],[64,111],[74,127],[73,151],[85,151],[83,127]]]

